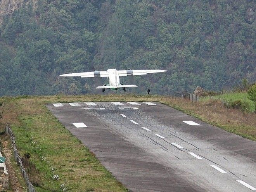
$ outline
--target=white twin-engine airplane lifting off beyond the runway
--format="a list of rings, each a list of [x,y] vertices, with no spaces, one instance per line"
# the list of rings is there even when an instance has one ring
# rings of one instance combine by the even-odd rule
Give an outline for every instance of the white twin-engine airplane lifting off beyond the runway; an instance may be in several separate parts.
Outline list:
[[[96,89],[102,89],[102,93],[105,91],[105,89],[111,89],[111,90],[118,90],[119,88],[123,88],[124,91],[126,87],[137,87],[137,85],[123,85],[123,83],[120,84],[120,76],[128,76],[128,75],[144,75],[148,73],[162,73],[166,72],[166,70],[159,70],[159,69],[153,69],[153,70],[121,70],[118,71],[116,69],[107,69],[107,71],[92,71],[92,72],[83,72],[83,73],[68,73],[68,74],[62,74],[59,76],[62,77],[107,77],[109,80],[109,84],[106,85],[106,83],[103,86],[97,86]]]

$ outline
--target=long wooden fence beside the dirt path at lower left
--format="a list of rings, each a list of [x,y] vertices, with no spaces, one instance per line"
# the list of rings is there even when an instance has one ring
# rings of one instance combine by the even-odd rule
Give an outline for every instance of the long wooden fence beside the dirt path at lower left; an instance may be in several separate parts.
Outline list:
[[[23,178],[26,181],[26,184],[28,186],[28,192],[36,192],[36,190],[34,189],[32,183],[29,181],[28,174],[26,173],[25,168],[22,165],[21,156],[19,156],[18,150],[16,148],[15,137],[14,137],[14,135],[12,133],[12,130],[11,130],[11,128],[10,128],[10,126],[8,124],[5,125],[5,134],[9,134],[10,135],[10,139],[12,141],[12,147],[13,147],[13,150],[14,150],[14,158],[15,158],[15,160],[17,161],[18,165],[21,168],[22,176],[23,176]]]

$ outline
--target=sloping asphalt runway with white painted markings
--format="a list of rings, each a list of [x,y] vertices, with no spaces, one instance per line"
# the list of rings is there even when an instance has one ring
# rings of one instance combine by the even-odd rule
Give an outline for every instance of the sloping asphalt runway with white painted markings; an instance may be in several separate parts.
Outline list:
[[[130,191],[256,190],[256,142],[164,104],[46,106]]]

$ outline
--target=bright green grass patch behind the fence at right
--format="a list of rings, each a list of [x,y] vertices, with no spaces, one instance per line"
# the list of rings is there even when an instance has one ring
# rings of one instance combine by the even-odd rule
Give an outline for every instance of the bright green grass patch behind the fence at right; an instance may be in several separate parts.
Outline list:
[[[235,93],[224,93],[222,95],[216,95],[216,96],[211,96],[211,97],[204,97],[201,100],[209,100],[209,99],[226,99],[226,100],[242,100],[246,101],[249,103],[249,110],[251,112],[255,111],[254,103],[252,100],[248,98],[248,95],[246,92],[235,92]]]

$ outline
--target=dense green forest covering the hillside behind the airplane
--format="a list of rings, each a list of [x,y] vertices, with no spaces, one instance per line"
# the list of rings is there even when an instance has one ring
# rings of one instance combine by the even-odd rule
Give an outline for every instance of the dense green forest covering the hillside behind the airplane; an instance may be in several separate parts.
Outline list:
[[[63,73],[165,69],[128,92],[220,91],[256,80],[254,0],[29,0],[0,27],[0,96],[101,93]],[[104,81],[105,80],[105,81]],[[118,91],[119,92],[119,91]],[[120,91],[120,93],[123,93]],[[105,94],[105,93],[104,93]]]

